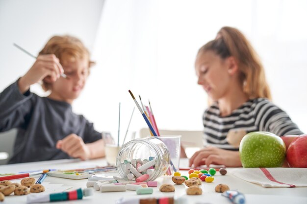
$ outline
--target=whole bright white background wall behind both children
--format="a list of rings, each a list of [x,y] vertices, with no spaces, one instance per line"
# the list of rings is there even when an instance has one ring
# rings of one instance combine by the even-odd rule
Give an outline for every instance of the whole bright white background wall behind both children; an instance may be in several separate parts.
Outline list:
[[[307,133],[307,1],[106,0],[101,8],[99,0],[0,0],[0,90],[33,63],[13,42],[36,54],[51,35],[71,33],[97,61],[74,110],[98,130],[117,129],[119,102],[126,128],[135,106],[129,89],[146,104],[151,100],[160,129],[201,130],[206,95],[197,85],[195,55],[228,25],[254,45],[274,102]],[[60,9],[56,17],[54,9]],[[131,129],[141,127],[146,124],[136,110]]]

